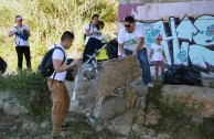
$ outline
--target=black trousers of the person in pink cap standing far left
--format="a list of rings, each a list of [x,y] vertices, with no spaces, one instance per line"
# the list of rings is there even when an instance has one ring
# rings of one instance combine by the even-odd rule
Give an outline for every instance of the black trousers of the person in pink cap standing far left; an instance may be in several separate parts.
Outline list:
[[[17,55],[18,55],[18,67],[22,68],[23,55],[26,60],[26,67],[31,68],[31,53],[30,46],[15,46]]]

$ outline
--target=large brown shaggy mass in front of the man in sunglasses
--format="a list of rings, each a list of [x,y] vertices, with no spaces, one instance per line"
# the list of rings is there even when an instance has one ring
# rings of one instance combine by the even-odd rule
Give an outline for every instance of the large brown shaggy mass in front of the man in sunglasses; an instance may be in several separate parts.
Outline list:
[[[101,96],[115,96],[116,88],[127,85],[126,92],[129,92],[131,83],[140,75],[141,70],[136,56],[106,61],[97,77],[97,89]]]

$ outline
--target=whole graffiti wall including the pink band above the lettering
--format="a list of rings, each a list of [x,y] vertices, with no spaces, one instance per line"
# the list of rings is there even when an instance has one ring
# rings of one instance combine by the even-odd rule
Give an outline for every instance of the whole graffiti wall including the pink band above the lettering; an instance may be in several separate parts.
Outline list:
[[[206,4],[210,6],[205,7]],[[145,31],[148,50],[154,43],[154,36],[162,34],[168,64],[193,64],[202,72],[214,72],[214,1],[203,2],[202,4],[203,8],[212,7],[212,9],[194,10],[194,12],[189,11],[190,2],[173,2],[169,4],[169,8],[167,7],[168,3],[164,3],[160,7],[167,9],[165,17],[163,11],[160,13],[160,10],[153,10],[153,8],[148,11],[142,10],[147,9],[143,8],[148,7],[147,4],[128,6],[129,9],[126,9],[126,14],[119,14],[119,19],[128,15],[128,11],[129,15],[131,14],[137,19],[137,24],[141,25]],[[173,11],[172,7],[175,6],[183,6],[180,7],[181,12],[175,13]],[[194,6],[196,6],[196,2],[194,2]],[[125,7],[125,4],[120,6],[119,12]],[[174,10],[178,11],[179,9]],[[150,11],[151,13],[148,13]],[[185,11],[188,12],[185,13]],[[145,17],[140,17],[142,13],[145,13]],[[156,13],[157,17],[154,17]],[[160,17],[161,19],[157,20]],[[120,22],[120,26],[122,28],[122,22]]]

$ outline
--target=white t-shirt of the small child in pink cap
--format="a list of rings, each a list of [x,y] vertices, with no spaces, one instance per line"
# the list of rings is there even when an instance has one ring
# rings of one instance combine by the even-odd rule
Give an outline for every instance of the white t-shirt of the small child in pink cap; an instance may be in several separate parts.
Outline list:
[[[163,55],[162,55],[162,52],[164,51],[163,45],[158,45],[153,43],[151,45],[151,49],[153,50],[153,55],[152,55],[153,61],[163,61]]]

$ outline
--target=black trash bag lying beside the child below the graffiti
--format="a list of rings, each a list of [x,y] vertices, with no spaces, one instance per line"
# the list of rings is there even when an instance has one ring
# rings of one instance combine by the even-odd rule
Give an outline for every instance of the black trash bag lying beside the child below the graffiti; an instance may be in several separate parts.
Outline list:
[[[165,67],[168,71],[163,73],[163,84],[202,85],[202,74],[193,65],[165,65]]]

